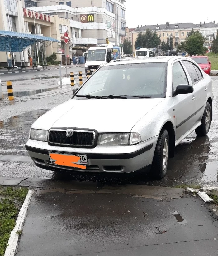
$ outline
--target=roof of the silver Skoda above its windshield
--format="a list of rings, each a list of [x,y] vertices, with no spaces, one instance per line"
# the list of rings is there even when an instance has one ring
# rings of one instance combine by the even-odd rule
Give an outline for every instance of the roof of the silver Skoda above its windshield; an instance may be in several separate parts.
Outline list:
[[[129,58],[129,59],[119,59],[114,62],[108,63],[109,66],[120,65],[120,64],[135,64],[135,63],[167,63],[170,59],[184,59],[180,56],[156,56],[156,57],[146,57],[146,58]]]

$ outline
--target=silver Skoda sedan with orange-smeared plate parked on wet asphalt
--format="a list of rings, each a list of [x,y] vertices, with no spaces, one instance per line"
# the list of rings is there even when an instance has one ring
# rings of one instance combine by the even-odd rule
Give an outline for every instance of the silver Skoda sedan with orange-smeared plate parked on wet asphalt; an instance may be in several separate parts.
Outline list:
[[[167,173],[174,148],[209,132],[212,80],[188,57],[118,60],[31,126],[26,149],[58,171]]]

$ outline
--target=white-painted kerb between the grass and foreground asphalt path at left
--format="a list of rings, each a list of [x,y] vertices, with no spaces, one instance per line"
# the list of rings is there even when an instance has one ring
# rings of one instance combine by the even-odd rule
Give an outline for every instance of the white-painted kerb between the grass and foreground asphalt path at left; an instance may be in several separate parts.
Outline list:
[[[17,234],[17,231],[20,231],[23,229],[23,224],[26,219],[26,214],[27,214],[27,208],[30,204],[31,197],[34,193],[34,190],[29,190],[29,192],[26,195],[26,198],[24,200],[24,203],[20,209],[20,212],[18,214],[17,220],[16,220],[16,225],[14,229],[11,232],[11,235],[8,240],[8,246],[5,250],[4,256],[14,256],[17,251],[18,247],[18,240],[19,240],[19,234]]]

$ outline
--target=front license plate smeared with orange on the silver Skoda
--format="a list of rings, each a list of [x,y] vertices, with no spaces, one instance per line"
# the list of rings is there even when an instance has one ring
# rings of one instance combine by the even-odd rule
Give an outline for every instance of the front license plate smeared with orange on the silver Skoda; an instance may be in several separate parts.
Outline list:
[[[69,154],[57,154],[49,152],[49,160],[53,164],[64,165],[64,166],[74,166],[77,165],[88,165],[87,155],[69,155]]]

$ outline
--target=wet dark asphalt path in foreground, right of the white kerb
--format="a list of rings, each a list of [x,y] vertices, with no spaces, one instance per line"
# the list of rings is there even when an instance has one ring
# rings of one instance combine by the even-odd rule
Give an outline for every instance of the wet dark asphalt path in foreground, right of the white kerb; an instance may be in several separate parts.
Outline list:
[[[217,254],[218,221],[199,198],[161,202],[128,194],[39,192],[17,256]]]

